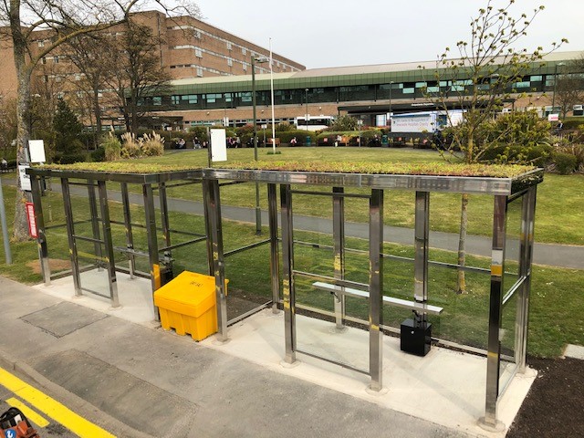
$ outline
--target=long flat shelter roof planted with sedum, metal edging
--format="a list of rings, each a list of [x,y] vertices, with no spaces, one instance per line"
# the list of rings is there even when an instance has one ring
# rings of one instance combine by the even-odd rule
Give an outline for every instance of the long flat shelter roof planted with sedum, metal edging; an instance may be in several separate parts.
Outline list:
[[[98,163],[99,164],[99,163]],[[441,163],[442,164],[442,163]],[[115,169],[83,169],[82,167],[33,167],[26,172],[41,177],[112,181],[120,183],[156,184],[183,180],[235,180],[258,183],[328,185],[335,187],[369,187],[373,189],[400,189],[422,192],[482,193],[513,195],[543,181],[543,170],[527,166],[428,165],[415,169],[396,166],[376,166],[364,172],[366,163],[327,163],[318,167],[311,162],[251,162],[234,163],[224,168],[168,169],[151,166],[151,172]],[[326,166],[325,165],[325,166]],[[126,166],[127,168],[128,166]],[[315,170],[316,169],[316,170]],[[410,171],[410,172],[408,172]]]

